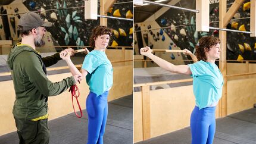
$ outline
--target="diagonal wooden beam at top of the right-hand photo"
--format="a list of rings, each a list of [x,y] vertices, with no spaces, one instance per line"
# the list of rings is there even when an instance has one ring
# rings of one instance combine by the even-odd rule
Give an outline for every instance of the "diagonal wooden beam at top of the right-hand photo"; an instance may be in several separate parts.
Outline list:
[[[229,11],[227,11],[227,13],[225,11],[226,14],[223,17],[223,27],[227,26],[229,21],[233,18],[233,16],[238,11],[238,9],[240,8],[240,6],[243,4],[244,1],[245,0],[236,0],[235,2],[233,2],[232,6],[229,8]],[[220,27],[220,28],[223,28],[223,27]]]

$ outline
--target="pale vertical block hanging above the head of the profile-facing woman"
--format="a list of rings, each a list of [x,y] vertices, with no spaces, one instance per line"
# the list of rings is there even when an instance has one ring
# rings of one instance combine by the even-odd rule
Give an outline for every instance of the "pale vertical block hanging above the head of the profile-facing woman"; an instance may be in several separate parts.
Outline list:
[[[209,1],[196,0],[196,31],[209,32],[209,20],[210,20],[210,4]]]

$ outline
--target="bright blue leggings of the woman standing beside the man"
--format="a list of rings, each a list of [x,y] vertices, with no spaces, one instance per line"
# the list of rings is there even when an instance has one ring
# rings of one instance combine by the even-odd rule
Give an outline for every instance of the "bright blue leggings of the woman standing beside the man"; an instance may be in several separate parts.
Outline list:
[[[88,113],[88,144],[103,144],[108,116],[108,91],[96,96],[90,92],[86,99]]]

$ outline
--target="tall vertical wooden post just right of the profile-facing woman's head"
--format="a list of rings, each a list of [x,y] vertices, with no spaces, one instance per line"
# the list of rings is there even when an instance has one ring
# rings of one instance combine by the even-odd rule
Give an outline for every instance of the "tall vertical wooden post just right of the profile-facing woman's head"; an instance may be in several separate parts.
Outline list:
[[[224,15],[226,15],[227,11],[227,1],[222,0],[219,3],[219,27],[225,28],[226,26],[224,25]],[[233,17],[233,16],[232,16]],[[227,39],[227,32],[220,30],[219,32],[219,38],[220,38],[220,48],[221,48],[221,53],[220,53],[220,62],[219,62],[219,68],[220,71],[223,75],[224,79],[224,84],[223,84],[223,89],[222,89],[222,97],[219,101],[218,105],[218,117],[225,117],[227,115],[227,47],[226,47],[226,39]]]

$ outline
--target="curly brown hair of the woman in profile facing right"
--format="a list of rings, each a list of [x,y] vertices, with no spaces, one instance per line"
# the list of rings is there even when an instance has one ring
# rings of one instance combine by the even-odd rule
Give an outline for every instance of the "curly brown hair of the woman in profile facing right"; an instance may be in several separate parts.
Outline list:
[[[196,57],[198,61],[207,61],[207,57],[205,52],[210,51],[212,46],[217,45],[220,43],[220,39],[214,36],[204,36],[198,40],[198,45],[196,45]]]

